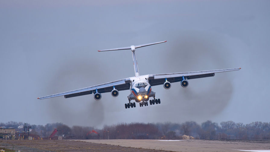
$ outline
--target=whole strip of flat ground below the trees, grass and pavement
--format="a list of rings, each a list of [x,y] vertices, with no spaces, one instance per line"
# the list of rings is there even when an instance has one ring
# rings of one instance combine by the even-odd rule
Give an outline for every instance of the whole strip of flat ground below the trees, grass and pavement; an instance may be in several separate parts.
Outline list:
[[[270,150],[270,140],[15,140],[0,141],[0,147],[22,152],[94,151],[94,152],[239,152]]]

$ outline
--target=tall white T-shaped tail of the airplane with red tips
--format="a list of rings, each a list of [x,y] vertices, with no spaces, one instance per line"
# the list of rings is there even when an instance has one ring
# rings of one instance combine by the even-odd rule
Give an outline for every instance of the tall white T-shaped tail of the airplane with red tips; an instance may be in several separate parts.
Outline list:
[[[103,52],[103,51],[114,51],[114,50],[125,50],[125,49],[131,49],[132,51],[132,58],[133,58],[133,65],[134,65],[134,71],[135,71],[135,76],[138,77],[139,74],[139,69],[138,69],[138,63],[137,63],[137,59],[136,59],[136,55],[135,55],[135,49],[140,48],[140,47],[144,47],[144,46],[150,46],[150,45],[154,45],[154,44],[159,44],[159,43],[164,43],[167,41],[161,41],[161,42],[155,42],[155,43],[148,43],[148,44],[141,44],[141,45],[137,45],[137,46],[127,46],[127,47],[121,47],[121,48],[115,48],[115,49],[104,49],[104,50],[98,50],[99,52]]]

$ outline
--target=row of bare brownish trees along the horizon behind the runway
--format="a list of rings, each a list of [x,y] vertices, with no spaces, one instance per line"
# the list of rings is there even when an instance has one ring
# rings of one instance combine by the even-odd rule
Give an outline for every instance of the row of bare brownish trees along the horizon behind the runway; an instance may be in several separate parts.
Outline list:
[[[17,127],[22,122],[0,123],[0,126]],[[30,124],[27,124],[30,125]],[[118,125],[105,125],[103,129],[94,127],[72,126],[62,123],[32,126],[32,135],[47,139],[56,128],[58,135],[65,135],[65,139],[182,139],[183,135],[194,139],[238,139],[238,140],[269,140],[270,122],[252,122],[244,125],[233,121],[215,122],[206,121],[202,124],[196,122],[178,123],[129,123]],[[94,130],[94,132],[93,132]],[[96,133],[95,133],[96,132]]]

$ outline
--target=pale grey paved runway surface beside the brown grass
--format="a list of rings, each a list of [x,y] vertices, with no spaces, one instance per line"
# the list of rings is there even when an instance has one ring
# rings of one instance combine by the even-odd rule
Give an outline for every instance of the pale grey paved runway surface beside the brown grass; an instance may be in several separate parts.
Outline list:
[[[239,150],[270,150],[270,140],[78,140],[123,147],[135,147],[177,152],[240,152]]]

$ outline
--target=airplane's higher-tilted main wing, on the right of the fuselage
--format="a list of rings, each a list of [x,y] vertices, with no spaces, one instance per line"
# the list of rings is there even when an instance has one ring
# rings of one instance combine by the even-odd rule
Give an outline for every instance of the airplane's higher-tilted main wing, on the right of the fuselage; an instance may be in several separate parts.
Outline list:
[[[208,70],[208,71],[194,71],[194,72],[180,72],[180,73],[166,73],[166,74],[150,74],[149,83],[151,86],[160,85],[165,82],[165,78],[169,82],[179,82],[185,79],[196,79],[196,78],[205,78],[213,77],[215,73],[228,72],[228,71],[237,71],[241,68],[230,68],[230,69],[219,69],[219,70]]]

